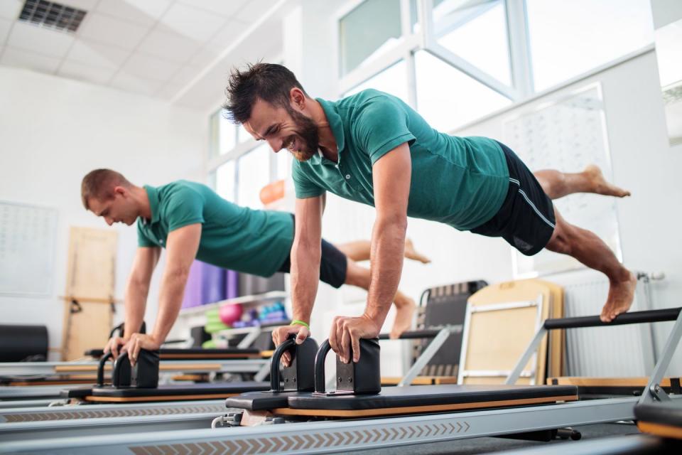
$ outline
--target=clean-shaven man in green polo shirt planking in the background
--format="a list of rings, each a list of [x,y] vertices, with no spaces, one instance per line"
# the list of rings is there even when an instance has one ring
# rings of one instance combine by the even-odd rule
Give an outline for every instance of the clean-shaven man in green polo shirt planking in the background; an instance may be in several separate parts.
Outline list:
[[[291,213],[239,207],[207,186],[189,181],[156,188],[135,186],[110,169],[88,173],[81,184],[81,197],[85,208],[109,225],[137,221],[138,249],[125,294],[125,333],[122,338],[112,338],[105,349],[112,350],[114,357],[124,345],[134,362],[140,348],[157,349],[166,340],[178,317],[194,259],[261,277],[290,272],[295,225]],[[369,270],[352,260],[369,259],[360,242],[337,248],[320,240],[318,247],[322,259],[315,279],[337,288],[342,284],[369,287]],[[152,333],[143,335],[137,332],[162,248],[166,248],[167,257],[158,315]],[[408,250],[408,257],[424,262],[411,243]],[[399,291],[394,300],[396,321],[391,336],[395,338],[411,326],[415,304]]]

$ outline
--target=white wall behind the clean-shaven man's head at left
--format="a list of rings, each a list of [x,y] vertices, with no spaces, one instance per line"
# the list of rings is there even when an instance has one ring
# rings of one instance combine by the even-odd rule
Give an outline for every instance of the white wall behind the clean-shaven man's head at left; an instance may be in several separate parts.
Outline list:
[[[108,167],[137,184],[200,181],[208,122],[200,112],[148,97],[6,67],[0,67],[0,100],[0,199],[59,213],[51,295],[0,296],[1,321],[45,324],[50,348],[59,348],[69,227],[108,228],[82,207],[82,177]],[[123,225],[109,229],[119,232],[116,296],[122,298],[136,232]],[[161,267],[148,299],[148,324],[156,315]],[[120,308],[116,317],[122,319]]]

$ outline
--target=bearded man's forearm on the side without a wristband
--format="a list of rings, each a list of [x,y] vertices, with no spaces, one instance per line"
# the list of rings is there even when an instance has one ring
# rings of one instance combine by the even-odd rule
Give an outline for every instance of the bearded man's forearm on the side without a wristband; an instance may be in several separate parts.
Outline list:
[[[377,218],[372,230],[372,278],[364,315],[384,323],[398,290],[403,269],[407,218]]]

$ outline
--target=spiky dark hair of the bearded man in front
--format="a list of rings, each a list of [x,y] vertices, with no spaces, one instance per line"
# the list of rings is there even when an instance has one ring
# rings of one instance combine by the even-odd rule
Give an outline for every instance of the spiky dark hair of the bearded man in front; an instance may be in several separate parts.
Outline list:
[[[227,101],[222,107],[227,111],[228,119],[242,124],[251,117],[251,109],[256,100],[288,109],[289,92],[293,87],[298,87],[308,96],[296,76],[282,65],[254,63],[243,71],[234,68],[227,80]]]

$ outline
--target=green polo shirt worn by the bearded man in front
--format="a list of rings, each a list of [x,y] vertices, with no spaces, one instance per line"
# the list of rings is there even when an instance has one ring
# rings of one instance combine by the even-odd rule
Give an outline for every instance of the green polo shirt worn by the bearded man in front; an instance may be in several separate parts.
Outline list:
[[[408,216],[470,230],[502,206],[509,170],[496,141],[437,132],[399,98],[378,90],[363,90],[337,102],[318,101],[336,139],[339,160],[334,163],[321,154],[294,160],[297,198],[330,191],[374,205],[372,166],[407,142],[412,159]]]

